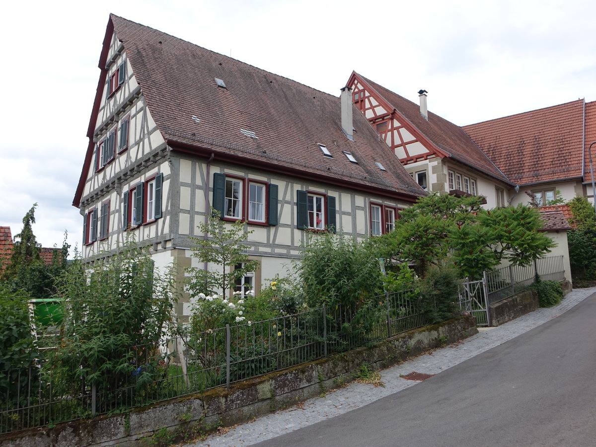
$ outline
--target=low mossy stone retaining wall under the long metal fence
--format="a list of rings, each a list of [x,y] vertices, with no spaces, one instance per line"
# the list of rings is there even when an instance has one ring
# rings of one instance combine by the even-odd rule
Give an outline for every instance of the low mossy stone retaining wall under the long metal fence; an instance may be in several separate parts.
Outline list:
[[[209,390],[204,393],[131,409],[125,414],[30,429],[0,437],[0,447],[122,447],[151,445],[160,429],[200,433],[233,426],[321,395],[353,380],[362,364],[371,370],[398,364],[426,350],[477,334],[471,316],[399,334],[371,347],[359,347],[313,362]]]

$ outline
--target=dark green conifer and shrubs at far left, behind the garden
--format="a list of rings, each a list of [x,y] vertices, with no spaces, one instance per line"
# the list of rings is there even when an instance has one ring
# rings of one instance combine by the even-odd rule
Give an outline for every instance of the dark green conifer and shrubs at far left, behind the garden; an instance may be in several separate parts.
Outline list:
[[[26,213],[23,229],[15,235],[13,253],[2,275],[2,281],[13,291],[23,289],[32,298],[45,299],[55,293],[54,278],[66,269],[70,245],[66,243],[65,234],[62,249],[55,249],[51,265],[45,265],[39,256],[41,245],[36,241],[32,228],[35,224],[36,207],[35,203]]]

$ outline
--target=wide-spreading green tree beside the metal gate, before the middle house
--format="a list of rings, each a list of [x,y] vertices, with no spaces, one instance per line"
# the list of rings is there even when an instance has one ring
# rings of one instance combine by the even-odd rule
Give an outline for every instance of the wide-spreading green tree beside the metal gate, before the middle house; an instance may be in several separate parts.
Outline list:
[[[481,197],[429,194],[400,212],[394,231],[375,244],[384,257],[430,266],[454,257],[462,277],[476,278],[502,260],[527,265],[554,244],[539,232],[538,211],[525,206],[482,209]]]

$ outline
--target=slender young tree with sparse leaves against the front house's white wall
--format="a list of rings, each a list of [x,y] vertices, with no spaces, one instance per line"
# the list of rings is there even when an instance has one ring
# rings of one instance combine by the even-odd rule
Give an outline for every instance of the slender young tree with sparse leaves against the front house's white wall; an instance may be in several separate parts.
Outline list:
[[[252,231],[245,231],[242,221],[225,222],[219,212],[212,208],[212,215],[207,223],[197,225],[198,231],[209,237],[191,237],[194,246],[191,247],[192,256],[199,262],[211,263],[216,270],[205,270],[202,267],[188,267],[185,269],[191,275],[188,291],[191,296],[199,293],[223,293],[226,296],[238,278],[247,272],[253,272],[259,267],[259,262],[249,260],[246,250],[249,246],[243,244],[247,235]],[[243,265],[241,268],[231,267]],[[219,270],[221,269],[221,271]],[[229,271],[226,272],[226,269]]]

